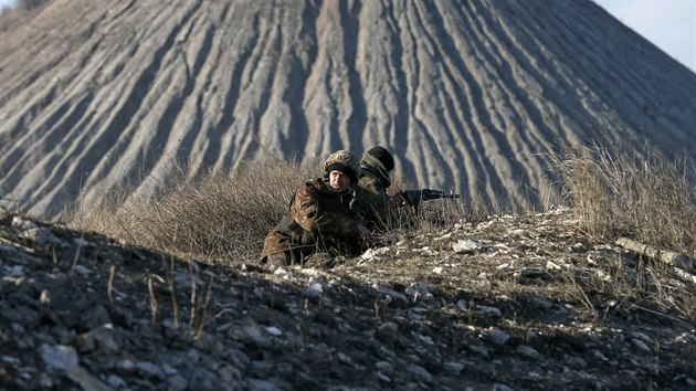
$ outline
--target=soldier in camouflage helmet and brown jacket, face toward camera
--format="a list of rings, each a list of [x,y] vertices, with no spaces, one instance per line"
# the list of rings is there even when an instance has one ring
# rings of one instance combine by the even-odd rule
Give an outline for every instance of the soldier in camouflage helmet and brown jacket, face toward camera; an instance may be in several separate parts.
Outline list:
[[[297,188],[289,213],[266,235],[261,263],[305,264],[315,253],[326,258],[362,252],[372,236],[349,208],[359,171],[350,151],[329,156],[324,177]]]

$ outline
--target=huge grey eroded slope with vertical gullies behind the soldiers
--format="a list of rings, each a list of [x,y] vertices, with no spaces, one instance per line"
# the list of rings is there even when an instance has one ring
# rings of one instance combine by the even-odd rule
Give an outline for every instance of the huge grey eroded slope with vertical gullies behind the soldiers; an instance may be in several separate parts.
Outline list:
[[[535,200],[556,142],[692,154],[694,91],[589,0],[52,0],[0,33],[0,189],[52,216],[179,160],[379,144],[420,184]]]

